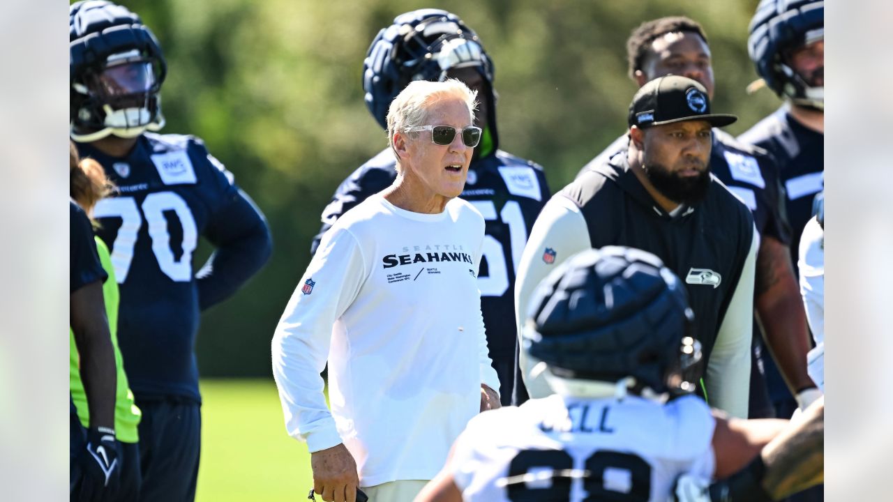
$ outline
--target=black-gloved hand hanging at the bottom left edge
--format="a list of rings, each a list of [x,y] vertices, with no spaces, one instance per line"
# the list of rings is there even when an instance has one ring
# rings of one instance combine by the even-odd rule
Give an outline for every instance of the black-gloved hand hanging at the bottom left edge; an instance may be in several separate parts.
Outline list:
[[[114,431],[105,427],[88,430],[87,444],[77,462],[81,472],[77,499],[111,500],[121,480],[121,455]]]

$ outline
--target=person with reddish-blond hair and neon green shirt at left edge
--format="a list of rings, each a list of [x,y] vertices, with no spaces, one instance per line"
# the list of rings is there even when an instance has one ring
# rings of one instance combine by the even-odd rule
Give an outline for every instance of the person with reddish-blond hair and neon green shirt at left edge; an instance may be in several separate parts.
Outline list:
[[[71,144],[71,198],[78,203],[81,209],[87,213],[88,217],[92,215],[93,208],[96,203],[103,197],[108,196],[113,189],[111,183],[105,177],[103,167],[96,163],[93,159],[84,159],[78,161],[77,150],[74,144]],[[117,389],[115,392],[115,408],[114,408],[114,431],[115,438],[118,439],[118,447],[121,450],[121,484],[113,498],[106,497],[104,500],[137,500],[139,497],[139,487],[142,484],[142,475],[139,469],[139,445],[138,445],[138,423],[141,413],[139,408],[133,402],[133,393],[130,391],[127,375],[124,373],[123,359],[121,358],[121,350],[118,348],[118,282],[114,278],[114,267],[112,265],[112,257],[109,254],[108,247],[101,238],[95,237],[96,253],[99,256],[99,262],[102,264],[104,272],[108,279],[103,283],[103,299],[105,304],[105,315],[108,320],[109,333],[112,338],[112,346],[114,349],[114,363],[117,381]],[[89,407],[87,406],[87,397],[84,393],[84,384],[80,379],[79,365],[80,356],[77,344],[74,340],[74,333],[71,332],[70,359],[70,389],[71,399],[74,406],[78,410],[80,423],[87,427],[90,423]]]

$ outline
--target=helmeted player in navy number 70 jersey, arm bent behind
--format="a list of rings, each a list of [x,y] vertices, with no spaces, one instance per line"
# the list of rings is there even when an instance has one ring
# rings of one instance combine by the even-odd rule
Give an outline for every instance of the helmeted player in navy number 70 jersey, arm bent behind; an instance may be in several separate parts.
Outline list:
[[[191,136],[159,135],[166,74],[139,16],[104,1],[70,8],[71,138],[118,187],[96,204],[121,288],[118,335],[139,423],[140,499],[192,500],[201,439],[193,347],[199,313],[271,254],[263,214]],[[203,235],[216,248],[193,272]]]

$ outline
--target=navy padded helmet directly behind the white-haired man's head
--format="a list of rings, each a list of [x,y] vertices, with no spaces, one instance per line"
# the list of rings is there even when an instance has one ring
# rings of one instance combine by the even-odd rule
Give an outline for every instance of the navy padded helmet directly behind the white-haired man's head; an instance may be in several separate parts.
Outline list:
[[[381,29],[363,60],[363,90],[370,113],[388,128],[388,107],[413,80],[444,80],[455,68],[479,69],[487,82],[488,121],[495,132],[493,63],[477,34],[453,13],[419,9]]]

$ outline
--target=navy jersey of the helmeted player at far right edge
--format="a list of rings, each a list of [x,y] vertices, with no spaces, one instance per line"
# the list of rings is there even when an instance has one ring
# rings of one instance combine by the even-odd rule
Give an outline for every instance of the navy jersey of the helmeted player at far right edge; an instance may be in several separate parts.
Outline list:
[[[791,118],[787,106],[783,106],[739,136],[739,140],[764,148],[775,158],[787,195],[791,261],[797,272],[800,235],[813,216],[815,194],[824,188],[824,135]]]

